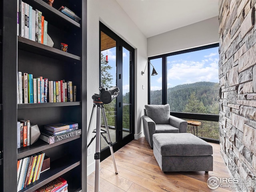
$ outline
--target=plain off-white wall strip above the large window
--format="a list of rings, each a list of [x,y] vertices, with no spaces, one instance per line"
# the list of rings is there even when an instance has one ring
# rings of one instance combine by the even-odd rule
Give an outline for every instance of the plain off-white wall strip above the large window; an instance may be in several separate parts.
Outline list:
[[[218,16],[148,38],[148,57],[219,41]]]

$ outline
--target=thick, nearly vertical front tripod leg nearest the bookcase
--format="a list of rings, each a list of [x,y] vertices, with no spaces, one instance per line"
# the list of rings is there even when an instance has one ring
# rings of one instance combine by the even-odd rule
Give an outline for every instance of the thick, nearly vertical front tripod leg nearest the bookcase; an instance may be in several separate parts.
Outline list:
[[[96,123],[96,153],[95,159],[95,186],[94,191],[98,192],[100,188],[100,106],[97,106],[97,123]]]

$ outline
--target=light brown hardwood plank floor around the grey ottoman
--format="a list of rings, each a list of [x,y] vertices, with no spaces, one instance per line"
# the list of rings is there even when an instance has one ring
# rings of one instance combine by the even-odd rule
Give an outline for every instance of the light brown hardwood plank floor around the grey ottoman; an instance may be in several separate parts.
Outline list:
[[[118,174],[115,174],[112,157],[100,162],[101,192],[228,192],[228,188],[208,188],[206,181],[211,176],[230,175],[220,156],[219,144],[213,147],[213,171],[163,173],[153,155],[153,150],[144,137],[133,140],[114,153]],[[95,174],[87,177],[87,192],[94,192]]]

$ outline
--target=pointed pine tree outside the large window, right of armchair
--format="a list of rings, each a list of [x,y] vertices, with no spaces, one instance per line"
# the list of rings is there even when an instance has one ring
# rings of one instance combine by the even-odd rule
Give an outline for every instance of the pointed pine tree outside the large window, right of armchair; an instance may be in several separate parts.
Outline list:
[[[196,92],[192,92],[183,112],[206,113],[207,108],[197,99]]]

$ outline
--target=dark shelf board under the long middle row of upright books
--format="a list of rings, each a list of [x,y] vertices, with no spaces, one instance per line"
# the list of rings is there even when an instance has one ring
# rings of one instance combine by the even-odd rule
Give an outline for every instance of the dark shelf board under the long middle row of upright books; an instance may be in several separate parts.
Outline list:
[[[63,107],[81,105],[80,101],[76,102],[59,102],[59,103],[28,103],[18,104],[18,109],[44,108],[44,107]]]

